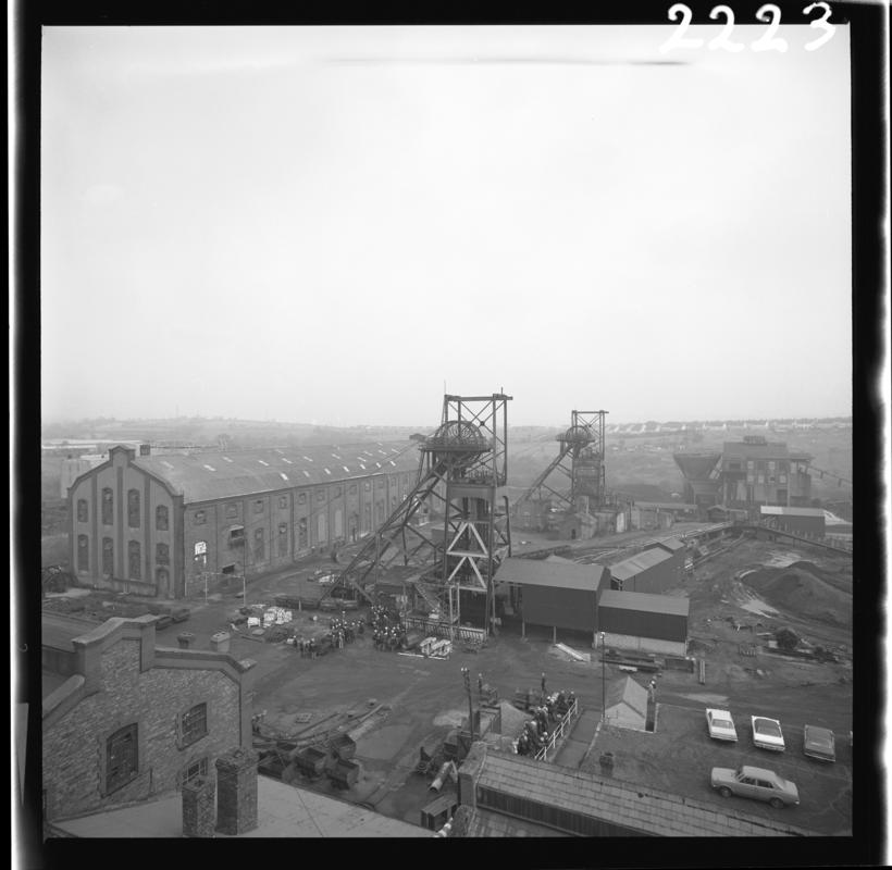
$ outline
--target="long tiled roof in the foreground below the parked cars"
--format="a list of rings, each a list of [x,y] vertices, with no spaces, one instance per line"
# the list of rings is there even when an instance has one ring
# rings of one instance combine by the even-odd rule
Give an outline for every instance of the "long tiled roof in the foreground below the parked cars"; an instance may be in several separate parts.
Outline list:
[[[478,785],[608,824],[662,836],[809,833],[783,821],[749,816],[738,809],[733,813],[723,812],[705,800],[623,783],[596,773],[544,765],[524,756],[487,753]]]

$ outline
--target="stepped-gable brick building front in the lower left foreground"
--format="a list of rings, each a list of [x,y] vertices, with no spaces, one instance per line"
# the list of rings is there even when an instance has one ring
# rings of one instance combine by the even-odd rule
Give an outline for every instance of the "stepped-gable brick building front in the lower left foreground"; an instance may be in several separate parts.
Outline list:
[[[115,618],[71,637],[67,679],[45,681],[57,685],[42,701],[46,820],[173,793],[250,749],[253,662],[156,648],[154,621]]]

